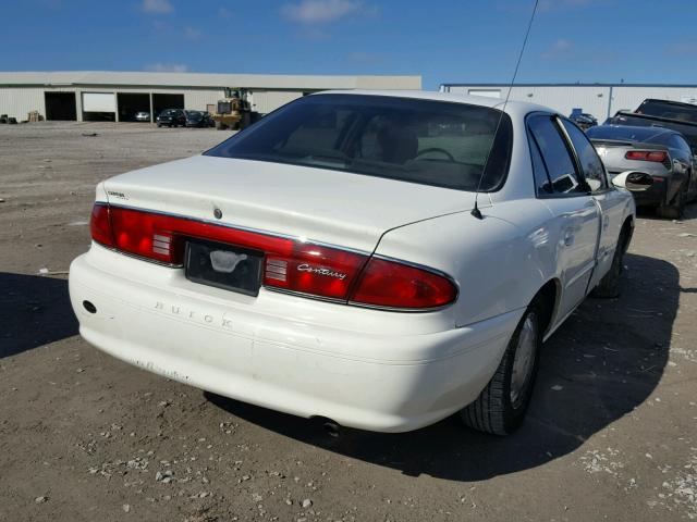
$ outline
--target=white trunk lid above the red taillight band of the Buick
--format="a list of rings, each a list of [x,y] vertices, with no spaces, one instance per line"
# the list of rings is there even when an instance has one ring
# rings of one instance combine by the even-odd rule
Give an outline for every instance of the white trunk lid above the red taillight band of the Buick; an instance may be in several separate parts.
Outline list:
[[[105,188],[113,206],[366,252],[384,232],[469,210],[475,197],[342,171],[204,156],[122,174]],[[488,202],[479,200],[481,207]]]

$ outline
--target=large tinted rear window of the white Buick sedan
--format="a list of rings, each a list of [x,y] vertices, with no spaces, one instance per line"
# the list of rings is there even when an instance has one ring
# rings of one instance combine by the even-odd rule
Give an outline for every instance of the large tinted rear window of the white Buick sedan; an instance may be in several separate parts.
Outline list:
[[[470,191],[481,179],[481,190],[496,190],[505,178],[513,140],[511,120],[501,114],[486,107],[421,99],[307,96],[205,154]]]

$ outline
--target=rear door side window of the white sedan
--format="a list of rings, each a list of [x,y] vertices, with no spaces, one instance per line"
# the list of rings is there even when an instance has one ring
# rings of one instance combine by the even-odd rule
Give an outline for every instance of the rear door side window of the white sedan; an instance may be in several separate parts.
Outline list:
[[[554,123],[553,116],[542,114],[530,116],[527,125],[535,138],[534,142],[539,147],[553,194],[586,194],[585,184],[576,172],[572,153]]]

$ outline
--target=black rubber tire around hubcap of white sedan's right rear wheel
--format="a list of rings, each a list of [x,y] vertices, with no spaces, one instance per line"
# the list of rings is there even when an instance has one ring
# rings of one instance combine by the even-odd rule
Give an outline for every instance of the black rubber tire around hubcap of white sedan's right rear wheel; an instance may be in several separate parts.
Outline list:
[[[460,415],[467,426],[493,435],[510,435],[521,425],[530,403],[537,377],[539,351],[542,346],[541,319],[543,316],[542,307],[537,301],[533,301],[521,318],[493,377],[481,390],[477,400],[461,410]],[[513,364],[523,326],[528,320],[534,324],[533,361],[522,391],[514,401],[511,394]]]

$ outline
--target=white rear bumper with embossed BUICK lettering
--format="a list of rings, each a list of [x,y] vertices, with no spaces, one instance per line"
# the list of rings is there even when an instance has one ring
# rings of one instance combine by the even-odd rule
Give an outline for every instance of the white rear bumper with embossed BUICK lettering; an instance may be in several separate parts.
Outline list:
[[[113,258],[108,269],[106,257]],[[146,284],[114,274],[137,273],[133,268],[154,277]],[[279,296],[303,302],[278,316],[256,310],[261,295],[258,301],[244,296],[247,303],[240,306],[218,298],[223,290],[195,285],[200,293],[184,291],[176,272],[99,247],[78,257],[71,265],[70,295],[83,337],[131,364],[219,395],[379,432],[415,430],[472,402],[522,314],[418,332],[414,314],[360,309],[347,313],[343,325],[337,314],[327,325],[303,321],[314,315],[308,307],[340,304]],[[168,281],[175,282],[169,289]],[[83,301],[97,312],[89,313]],[[366,324],[382,316],[390,333],[362,330],[356,314]],[[400,321],[401,335],[394,333]]]

